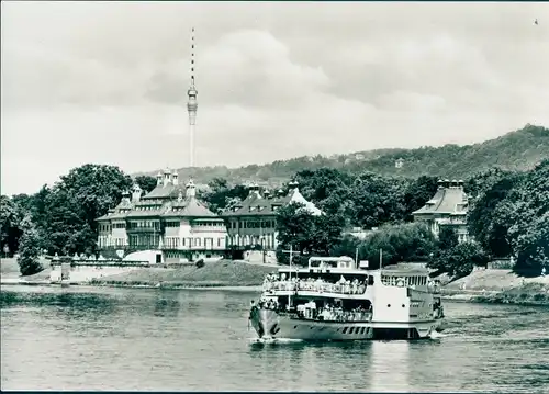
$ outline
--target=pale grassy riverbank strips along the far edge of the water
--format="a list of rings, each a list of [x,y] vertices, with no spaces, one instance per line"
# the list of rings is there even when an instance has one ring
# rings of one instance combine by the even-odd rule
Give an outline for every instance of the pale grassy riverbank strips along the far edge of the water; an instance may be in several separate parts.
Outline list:
[[[47,267],[44,263],[44,267]],[[146,268],[103,277],[86,285],[143,289],[217,289],[260,292],[267,273],[278,266],[221,260],[199,268]],[[2,259],[1,283],[47,285],[51,268],[31,277],[20,277],[14,259]],[[466,278],[448,282],[442,279],[442,299],[461,302],[549,305],[549,277],[522,278],[511,270],[478,270]],[[78,284],[78,283],[75,283]],[[80,283],[85,284],[85,283]]]

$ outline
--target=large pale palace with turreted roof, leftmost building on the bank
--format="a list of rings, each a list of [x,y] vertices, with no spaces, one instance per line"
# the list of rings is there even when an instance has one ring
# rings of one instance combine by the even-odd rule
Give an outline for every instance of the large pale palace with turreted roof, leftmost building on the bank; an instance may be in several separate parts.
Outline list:
[[[116,207],[97,218],[101,254],[122,257],[160,250],[163,261],[157,262],[222,258],[226,249],[225,223],[195,193],[192,180],[183,188],[177,172],[169,169],[157,175],[156,188],[143,196],[141,188],[134,185]]]

